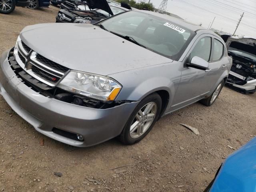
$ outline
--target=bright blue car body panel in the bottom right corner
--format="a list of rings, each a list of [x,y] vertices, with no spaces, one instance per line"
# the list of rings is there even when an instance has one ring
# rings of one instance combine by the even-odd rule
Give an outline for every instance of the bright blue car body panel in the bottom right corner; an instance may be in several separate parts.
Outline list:
[[[256,192],[256,138],[222,164],[210,192]]]

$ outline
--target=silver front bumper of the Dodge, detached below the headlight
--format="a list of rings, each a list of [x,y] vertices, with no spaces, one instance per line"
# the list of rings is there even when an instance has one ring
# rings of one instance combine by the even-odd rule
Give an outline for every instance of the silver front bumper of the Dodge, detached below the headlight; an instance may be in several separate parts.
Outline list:
[[[16,76],[10,51],[0,58],[0,94],[11,108],[38,132],[60,142],[92,146],[118,136],[138,102],[106,109],[89,108],[49,98]],[[84,140],[76,139],[81,135]]]

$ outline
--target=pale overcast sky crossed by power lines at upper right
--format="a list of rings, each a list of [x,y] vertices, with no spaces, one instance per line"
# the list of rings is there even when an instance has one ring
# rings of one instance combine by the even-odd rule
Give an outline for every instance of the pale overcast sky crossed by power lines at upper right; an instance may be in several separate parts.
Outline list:
[[[150,0],[158,8],[162,0]],[[147,2],[147,0],[146,0]],[[168,0],[167,12],[194,24],[233,34],[242,13],[236,35],[256,38],[256,0]]]

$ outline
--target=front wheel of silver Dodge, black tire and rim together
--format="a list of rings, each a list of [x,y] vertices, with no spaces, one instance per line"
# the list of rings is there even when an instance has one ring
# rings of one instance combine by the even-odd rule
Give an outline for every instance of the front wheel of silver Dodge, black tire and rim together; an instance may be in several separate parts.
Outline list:
[[[136,106],[126,122],[119,140],[126,145],[142,140],[158,120],[162,99],[157,93],[150,94]]]

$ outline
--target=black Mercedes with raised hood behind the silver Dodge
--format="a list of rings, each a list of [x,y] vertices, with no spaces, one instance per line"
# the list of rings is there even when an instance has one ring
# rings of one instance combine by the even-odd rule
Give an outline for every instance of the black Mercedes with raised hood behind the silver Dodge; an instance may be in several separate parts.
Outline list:
[[[96,4],[95,2],[102,2]],[[106,0],[94,0],[94,5],[90,4],[90,1],[81,2],[66,0],[61,4],[61,10],[59,10],[56,16],[56,22],[68,22],[68,23],[96,23],[109,16],[128,11],[124,7],[108,5]]]

